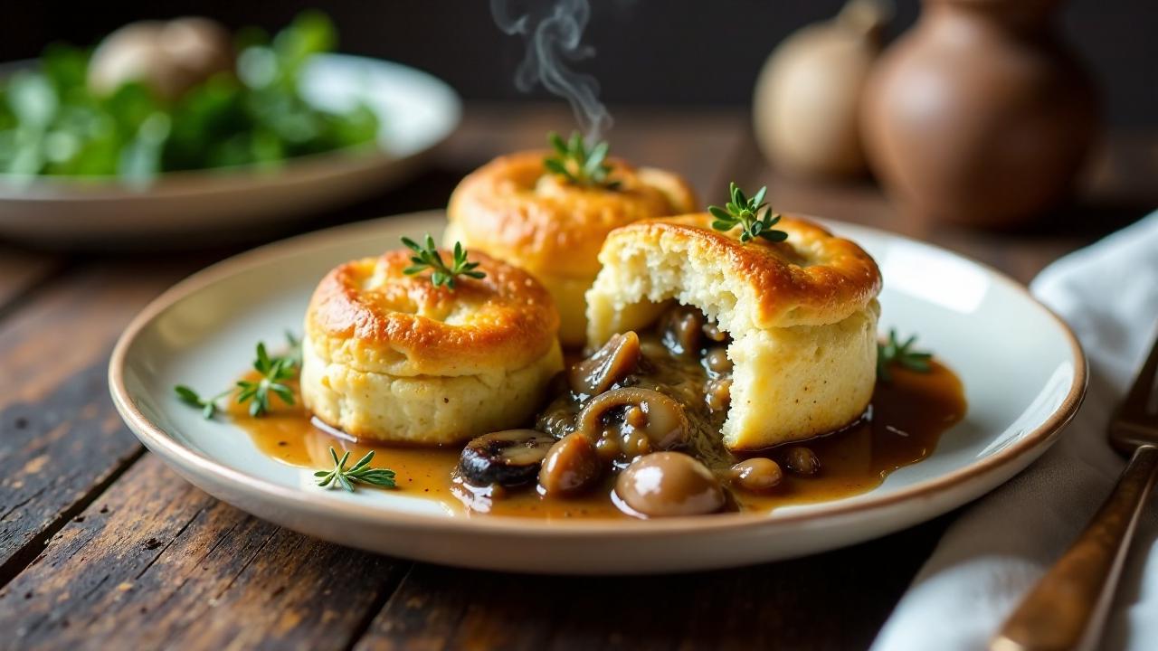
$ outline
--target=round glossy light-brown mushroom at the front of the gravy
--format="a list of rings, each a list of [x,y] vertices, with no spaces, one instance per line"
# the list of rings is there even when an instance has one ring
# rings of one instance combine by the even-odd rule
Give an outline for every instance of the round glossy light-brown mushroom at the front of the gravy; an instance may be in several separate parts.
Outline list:
[[[681,452],[636,459],[615,482],[616,505],[637,518],[699,515],[724,509],[727,497],[703,463]]]

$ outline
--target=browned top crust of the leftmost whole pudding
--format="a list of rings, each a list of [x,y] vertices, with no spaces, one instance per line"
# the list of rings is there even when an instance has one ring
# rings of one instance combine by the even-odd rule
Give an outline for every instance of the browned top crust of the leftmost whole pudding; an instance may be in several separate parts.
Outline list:
[[[403,273],[405,249],[342,264],[314,292],[306,334],[331,363],[398,376],[508,371],[541,358],[559,326],[547,290],[486,254],[468,258],[486,276],[460,276],[454,290],[434,286],[428,271]]]

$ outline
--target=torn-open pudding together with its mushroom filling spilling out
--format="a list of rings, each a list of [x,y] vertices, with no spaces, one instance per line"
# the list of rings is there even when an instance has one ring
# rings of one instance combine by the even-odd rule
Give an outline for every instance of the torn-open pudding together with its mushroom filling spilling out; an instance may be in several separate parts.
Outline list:
[[[726,487],[763,492],[784,471],[820,469],[807,447],[779,454],[786,468],[743,453],[864,416],[880,272],[805,220],[765,236],[714,221],[692,214],[608,235],[587,293],[593,352],[555,380],[534,430],[468,445],[457,477],[468,502],[533,478],[544,498],[566,499],[616,475],[610,497],[625,513],[692,515],[728,509]]]

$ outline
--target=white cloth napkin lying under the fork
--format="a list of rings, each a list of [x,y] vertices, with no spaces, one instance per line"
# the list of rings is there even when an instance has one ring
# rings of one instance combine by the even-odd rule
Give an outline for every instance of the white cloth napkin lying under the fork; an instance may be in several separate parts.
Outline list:
[[[1158,323],[1158,213],[1041,272],[1033,293],[1073,328],[1090,389],[1061,440],[945,532],[874,651],[984,649],[1109,495],[1124,461],[1106,423]],[[1158,499],[1143,512],[1100,648],[1158,650]]]

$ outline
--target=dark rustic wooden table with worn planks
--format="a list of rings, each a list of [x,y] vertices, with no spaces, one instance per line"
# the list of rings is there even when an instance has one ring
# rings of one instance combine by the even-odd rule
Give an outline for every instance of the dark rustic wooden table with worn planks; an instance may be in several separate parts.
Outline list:
[[[637,108],[616,118],[617,154],[683,173],[705,203],[723,202],[728,181],[768,183],[782,211],[907,233],[1020,280],[1158,205],[1150,186],[1158,146],[1137,136],[1112,139],[1075,207],[1035,231],[994,234],[899,214],[867,182],[780,178],[739,111]],[[541,146],[548,130],[570,124],[557,107],[469,107],[432,170],[298,231],[441,206],[474,167]],[[639,578],[440,568],[278,528],[147,454],[105,383],[110,349],[133,314],[236,250],[60,254],[0,244],[0,649],[857,649],[871,643],[952,520],[798,561]]]

